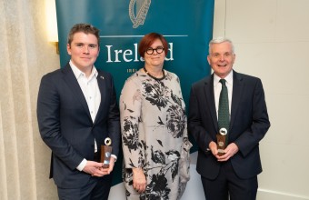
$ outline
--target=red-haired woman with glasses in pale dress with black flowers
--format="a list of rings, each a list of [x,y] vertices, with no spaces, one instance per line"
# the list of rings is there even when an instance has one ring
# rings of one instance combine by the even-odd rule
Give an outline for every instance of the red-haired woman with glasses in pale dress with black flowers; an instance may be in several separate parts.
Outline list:
[[[163,69],[163,35],[145,35],[138,51],[145,66],[125,81],[120,95],[126,197],[180,199],[192,145],[179,78]]]

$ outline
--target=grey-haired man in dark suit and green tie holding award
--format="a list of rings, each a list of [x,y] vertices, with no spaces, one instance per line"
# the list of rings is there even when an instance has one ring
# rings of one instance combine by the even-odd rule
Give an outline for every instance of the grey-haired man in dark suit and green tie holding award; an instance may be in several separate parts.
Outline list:
[[[207,200],[254,200],[257,175],[262,172],[259,142],[270,127],[259,78],[233,70],[232,41],[216,38],[209,43],[209,65],[214,74],[191,88],[188,129],[198,145],[196,170]],[[218,107],[225,80],[228,95],[227,142],[218,155]]]

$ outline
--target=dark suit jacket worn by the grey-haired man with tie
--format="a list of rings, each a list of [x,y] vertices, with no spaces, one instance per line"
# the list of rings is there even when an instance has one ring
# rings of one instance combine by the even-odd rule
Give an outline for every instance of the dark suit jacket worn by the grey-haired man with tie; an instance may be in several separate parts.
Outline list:
[[[234,71],[229,143],[235,143],[239,152],[230,160],[236,175],[249,178],[262,172],[259,141],[270,122],[264,100],[264,89],[259,78]],[[214,75],[192,85],[189,104],[188,129],[194,136],[199,152],[196,170],[206,178],[214,179],[220,163],[207,150],[219,133],[214,105]]]

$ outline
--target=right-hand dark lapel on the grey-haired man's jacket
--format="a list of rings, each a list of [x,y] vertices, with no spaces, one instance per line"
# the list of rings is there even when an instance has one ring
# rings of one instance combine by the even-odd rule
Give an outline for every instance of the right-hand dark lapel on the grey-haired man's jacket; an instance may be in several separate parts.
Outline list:
[[[235,115],[238,109],[238,106],[240,104],[241,96],[243,95],[243,78],[241,75],[233,72],[233,95],[232,95],[232,108],[231,108],[231,122],[230,122],[230,129],[232,129],[232,126],[234,124]]]

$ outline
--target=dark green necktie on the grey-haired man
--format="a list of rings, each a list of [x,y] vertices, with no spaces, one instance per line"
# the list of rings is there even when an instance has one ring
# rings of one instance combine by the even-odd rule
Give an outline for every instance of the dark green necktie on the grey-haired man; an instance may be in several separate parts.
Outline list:
[[[225,85],[225,79],[220,79],[220,83],[222,84],[222,89],[219,98],[219,109],[218,109],[218,125],[219,130],[221,128],[225,128],[228,132],[230,125],[230,115],[228,109],[228,95],[227,95],[227,87]],[[226,136],[227,140],[227,136]]]

